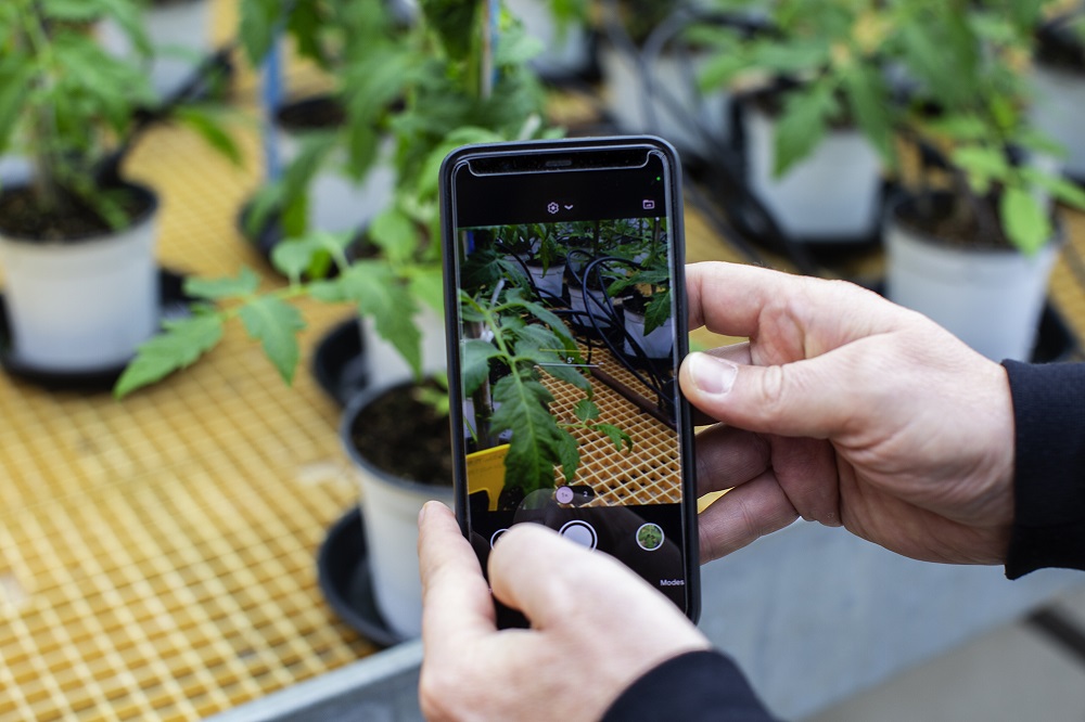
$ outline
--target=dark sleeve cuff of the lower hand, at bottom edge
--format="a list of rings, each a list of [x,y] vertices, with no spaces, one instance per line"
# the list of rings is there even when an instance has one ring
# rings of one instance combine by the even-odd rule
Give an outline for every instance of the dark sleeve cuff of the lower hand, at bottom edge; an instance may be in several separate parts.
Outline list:
[[[690,652],[646,673],[618,697],[603,722],[770,722],[739,668],[719,652]]]

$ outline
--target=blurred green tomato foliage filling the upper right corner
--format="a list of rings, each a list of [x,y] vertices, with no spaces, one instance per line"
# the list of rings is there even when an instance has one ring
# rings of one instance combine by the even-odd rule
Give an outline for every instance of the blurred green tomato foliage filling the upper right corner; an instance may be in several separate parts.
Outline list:
[[[808,156],[829,127],[851,123],[891,168],[897,166],[898,139],[941,151],[950,166],[958,220],[1000,229],[1024,253],[1034,253],[1051,232],[1041,191],[1085,207],[1085,197],[1061,185],[1056,190],[1058,179],[1030,160],[1051,149],[1030,125],[1023,70],[1035,30],[1057,1],[716,0],[716,5],[761,9],[768,21],[767,31],[752,36],[700,28],[699,37],[714,49],[701,82],[709,88],[758,76],[784,81],[777,175]],[[897,83],[906,78],[908,102],[893,101],[891,75]],[[926,172],[905,180],[915,193],[935,188]],[[969,222],[969,215],[990,218]]]

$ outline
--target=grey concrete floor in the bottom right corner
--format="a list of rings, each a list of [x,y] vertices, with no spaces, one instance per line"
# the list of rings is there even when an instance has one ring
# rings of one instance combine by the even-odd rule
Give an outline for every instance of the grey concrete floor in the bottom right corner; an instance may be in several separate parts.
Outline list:
[[[1070,622],[1074,628],[1071,633],[1085,635],[1085,581],[1045,609]],[[1085,655],[1068,648],[1035,621],[1022,619],[991,630],[806,722],[905,720],[1085,721]]]

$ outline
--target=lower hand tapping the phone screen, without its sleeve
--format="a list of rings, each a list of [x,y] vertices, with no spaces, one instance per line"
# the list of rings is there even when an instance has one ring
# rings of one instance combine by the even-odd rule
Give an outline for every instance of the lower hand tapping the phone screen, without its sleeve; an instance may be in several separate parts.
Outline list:
[[[419,517],[429,720],[598,720],[644,672],[707,641],[678,608],[601,552],[537,524],[489,556],[493,593],[532,629],[498,630],[489,586],[448,507]]]

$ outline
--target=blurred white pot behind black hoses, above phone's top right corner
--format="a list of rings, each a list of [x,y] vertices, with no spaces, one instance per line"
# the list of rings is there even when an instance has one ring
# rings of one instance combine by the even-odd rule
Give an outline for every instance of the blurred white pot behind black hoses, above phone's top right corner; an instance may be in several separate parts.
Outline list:
[[[651,89],[642,82],[637,63],[627,53],[603,43],[599,65],[603,74],[607,109],[624,133],[652,133],[671,141],[679,151],[712,157],[712,141],[697,131],[700,123],[715,142],[730,138],[730,94],[723,90],[702,94],[697,74],[706,55],[691,53],[689,72],[684,62],[663,54],[652,64]],[[649,98],[649,90],[653,91]],[[646,98],[648,99],[646,107]],[[671,98],[675,102],[672,103]]]

